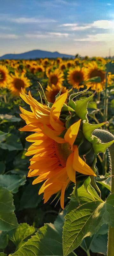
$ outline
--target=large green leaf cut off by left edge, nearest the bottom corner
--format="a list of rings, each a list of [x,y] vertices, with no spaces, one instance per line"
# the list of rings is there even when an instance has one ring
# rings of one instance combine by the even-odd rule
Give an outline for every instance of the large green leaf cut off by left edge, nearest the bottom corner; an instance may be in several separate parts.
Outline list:
[[[0,187],[0,230],[9,231],[16,228],[17,218],[14,213],[13,196],[6,188]]]

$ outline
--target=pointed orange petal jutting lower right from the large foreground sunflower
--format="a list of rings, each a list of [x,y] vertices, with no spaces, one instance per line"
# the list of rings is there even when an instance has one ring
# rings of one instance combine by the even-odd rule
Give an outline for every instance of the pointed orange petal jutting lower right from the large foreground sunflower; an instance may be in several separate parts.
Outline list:
[[[96,174],[93,172],[91,167],[88,164],[86,164],[82,160],[82,158],[79,156],[77,146],[75,147],[75,151],[74,151],[73,168],[77,172],[83,173],[85,175],[96,176]]]

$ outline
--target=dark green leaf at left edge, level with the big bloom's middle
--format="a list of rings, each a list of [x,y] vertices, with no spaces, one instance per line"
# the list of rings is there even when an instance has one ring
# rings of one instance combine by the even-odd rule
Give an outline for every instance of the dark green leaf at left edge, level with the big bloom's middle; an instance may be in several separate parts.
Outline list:
[[[0,148],[12,150],[23,150],[22,143],[20,139],[14,135],[9,133],[6,137],[6,141],[4,143],[0,143]]]

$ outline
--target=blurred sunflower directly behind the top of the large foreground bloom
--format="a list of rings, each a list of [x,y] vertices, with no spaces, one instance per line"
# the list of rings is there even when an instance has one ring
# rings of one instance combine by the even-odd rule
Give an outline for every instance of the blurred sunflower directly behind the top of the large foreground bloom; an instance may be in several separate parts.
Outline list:
[[[55,97],[59,93],[60,90],[61,90],[61,86],[56,86],[54,84],[52,84],[51,86],[48,85],[46,88],[46,92],[45,92],[47,100],[49,102],[54,103]],[[65,92],[68,92],[68,90],[66,89],[66,87],[62,86],[61,94],[65,93]]]

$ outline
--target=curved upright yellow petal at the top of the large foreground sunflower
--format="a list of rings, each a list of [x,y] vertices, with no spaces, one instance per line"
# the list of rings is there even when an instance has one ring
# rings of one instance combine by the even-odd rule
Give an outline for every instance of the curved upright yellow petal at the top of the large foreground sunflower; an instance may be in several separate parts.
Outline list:
[[[64,102],[67,99],[67,92],[60,95],[57,100],[53,103],[53,106],[50,110],[50,124],[51,126],[59,132],[64,130],[64,124],[60,121],[59,116],[61,108],[63,107]]]

